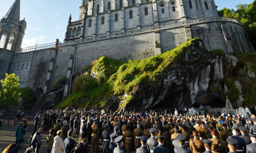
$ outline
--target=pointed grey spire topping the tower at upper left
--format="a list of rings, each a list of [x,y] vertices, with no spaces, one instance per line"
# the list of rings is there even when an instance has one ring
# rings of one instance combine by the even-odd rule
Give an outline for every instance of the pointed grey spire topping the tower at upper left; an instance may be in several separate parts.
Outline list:
[[[20,22],[20,0],[15,0],[15,2],[12,4],[12,7],[4,16],[4,19]]]

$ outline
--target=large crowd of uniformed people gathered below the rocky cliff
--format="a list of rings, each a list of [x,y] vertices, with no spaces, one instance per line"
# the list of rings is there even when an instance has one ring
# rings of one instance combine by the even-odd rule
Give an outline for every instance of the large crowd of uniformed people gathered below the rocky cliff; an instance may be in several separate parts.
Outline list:
[[[86,153],[90,143],[93,153],[99,151],[99,146],[103,153],[256,153],[255,107],[238,110],[233,114],[225,110],[207,113],[207,109],[196,111],[193,107],[120,113],[49,110],[42,113],[43,128],[38,127],[40,114],[36,114],[31,147],[26,153],[40,152],[43,131],[49,131],[47,153]],[[16,147],[9,148],[19,149],[25,131],[23,117],[16,144],[12,144]],[[76,137],[79,142],[74,140]]]

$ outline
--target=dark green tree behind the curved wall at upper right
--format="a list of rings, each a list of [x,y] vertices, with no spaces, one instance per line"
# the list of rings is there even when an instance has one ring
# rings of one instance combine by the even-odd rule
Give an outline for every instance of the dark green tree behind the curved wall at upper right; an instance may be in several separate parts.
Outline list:
[[[251,4],[239,4],[236,6],[237,11],[224,8],[218,11],[221,17],[230,17],[239,20],[247,31],[251,42],[256,48],[256,1]]]

